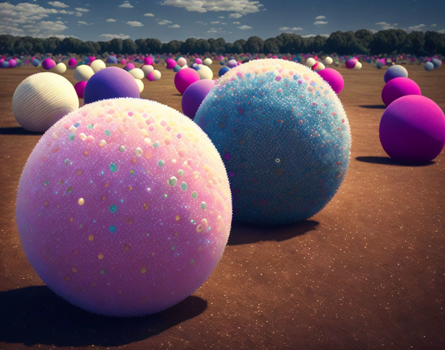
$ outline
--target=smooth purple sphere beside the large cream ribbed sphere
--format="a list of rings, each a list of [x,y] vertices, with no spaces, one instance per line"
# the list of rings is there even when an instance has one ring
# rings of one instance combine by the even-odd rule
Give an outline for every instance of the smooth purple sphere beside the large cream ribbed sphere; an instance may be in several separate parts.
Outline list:
[[[94,73],[83,92],[85,103],[108,98],[139,96],[139,87],[133,76],[118,67],[107,67]]]

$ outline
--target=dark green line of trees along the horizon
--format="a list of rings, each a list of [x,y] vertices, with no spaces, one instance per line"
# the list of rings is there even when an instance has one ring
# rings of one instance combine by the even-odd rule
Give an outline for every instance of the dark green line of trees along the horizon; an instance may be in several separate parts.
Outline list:
[[[407,33],[401,29],[387,29],[375,33],[367,29],[353,31],[336,31],[329,37],[302,37],[298,34],[282,33],[266,40],[251,36],[247,40],[238,39],[233,43],[223,38],[196,39],[185,41],[171,40],[166,43],[158,39],[112,39],[110,41],[82,41],[68,37],[63,40],[56,37],[46,39],[30,36],[14,37],[0,35],[0,53],[25,55],[35,53],[53,54],[161,54],[181,53],[200,54],[298,54],[298,53],[336,53],[338,55],[397,55],[414,54],[445,55],[445,34],[436,31],[412,31]]]

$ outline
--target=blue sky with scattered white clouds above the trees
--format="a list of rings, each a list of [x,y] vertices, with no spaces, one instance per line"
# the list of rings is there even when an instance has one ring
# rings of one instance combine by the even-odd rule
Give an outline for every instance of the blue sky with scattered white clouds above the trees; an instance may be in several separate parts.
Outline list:
[[[387,28],[445,33],[443,0],[108,0],[0,2],[0,34],[227,42],[282,32],[302,36]]]

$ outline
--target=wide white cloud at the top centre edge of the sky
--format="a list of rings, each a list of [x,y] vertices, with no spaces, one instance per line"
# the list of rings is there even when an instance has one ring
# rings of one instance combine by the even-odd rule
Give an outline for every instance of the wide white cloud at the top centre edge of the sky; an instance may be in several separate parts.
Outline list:
[[[161,5],[183,7],[187,11],[232,11],[243,14],[258,12],[263,6],[256,0],[163,0]]]

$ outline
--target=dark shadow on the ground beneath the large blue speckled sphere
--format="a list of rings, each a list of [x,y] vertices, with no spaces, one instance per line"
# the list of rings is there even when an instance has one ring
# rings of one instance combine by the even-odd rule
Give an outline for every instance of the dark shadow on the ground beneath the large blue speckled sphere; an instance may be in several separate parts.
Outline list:
[[[255,226],[233,222],[227,245],[236,246],[261,241],[286,241],[296,236],[316,230],[318,221],[303,220],[286,226]]]

